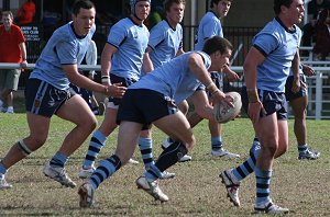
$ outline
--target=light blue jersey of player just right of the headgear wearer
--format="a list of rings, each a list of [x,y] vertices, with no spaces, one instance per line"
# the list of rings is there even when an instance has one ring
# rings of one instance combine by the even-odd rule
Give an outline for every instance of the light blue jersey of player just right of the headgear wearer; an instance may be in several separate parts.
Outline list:
[[[150,58],[154,68],[169,61],[183,47],[182,25],[177,24],[176,28],[172,28],[166,20],[161,21],[150,32],[148,46],[153,49]]]

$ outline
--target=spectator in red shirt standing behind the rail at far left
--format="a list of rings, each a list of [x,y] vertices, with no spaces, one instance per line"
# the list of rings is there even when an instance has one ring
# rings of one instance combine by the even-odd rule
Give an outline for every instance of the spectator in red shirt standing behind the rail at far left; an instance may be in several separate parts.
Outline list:
[[[21,28],[13,24],[13,15],[10,11],[2,12],[2,25],[0,25],[0,62],[20,64],[22,68],[28,66],[25,38]],[[13,113],[12,92],[18,90],[20,69],[0,69],[0,110],[3,111],[7,101],[7,113]]]

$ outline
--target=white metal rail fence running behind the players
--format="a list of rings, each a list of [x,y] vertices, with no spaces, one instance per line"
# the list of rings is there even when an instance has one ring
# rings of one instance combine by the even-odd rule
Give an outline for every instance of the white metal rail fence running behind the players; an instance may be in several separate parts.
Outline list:
[[[307,77],[309,103],[308,118],[324,119],[330,118],[330,61],[302,61],[314,67],[316,76]],[[33,69],[34,64],[29,64],[26,69]],[[81,70],[101,69],[100,65],[80,65]],[[0,64],[0,69],[20,69],[19,64]],[[242,66],[232,66],[232,70],[243,72]]]

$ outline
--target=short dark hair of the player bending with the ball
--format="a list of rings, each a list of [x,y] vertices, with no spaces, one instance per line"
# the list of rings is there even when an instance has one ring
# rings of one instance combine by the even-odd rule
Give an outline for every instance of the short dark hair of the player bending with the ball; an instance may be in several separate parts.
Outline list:
[[[208,55],[211,55],[218,50],[221,54],[224,54],[229,49],[232,50],[232,44],[224,37],[220,37],[218,35],[208,38],[202,47],[202,52],[207,53]]]

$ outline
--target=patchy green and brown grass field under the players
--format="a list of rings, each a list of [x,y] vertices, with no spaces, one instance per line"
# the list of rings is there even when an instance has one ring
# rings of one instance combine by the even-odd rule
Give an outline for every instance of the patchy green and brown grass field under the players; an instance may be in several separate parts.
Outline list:
[[[101,122],[101,117],[98,117]],[[293,121],[289,121],[290,144],[288,152],[274,164],[271,196],[280,206],[290,209],[287,216],[330,216],[330,159],[329,121],[308,121],[308,140],[312,148],[321,151],[317,161],[297,160]],[[44,164],[58,149],[72,124],[53,118],[47,142],[12,167],[7,180],[13,187],[0,191],[0,216],[252,216],[255,195],[254,175],[241,185],[241,208],[233,207],[226,196],[219,173],[238,165],[246,157],[253,138],[250,121],[238,118],[226,124],[223,139],[226,148],[238,152],[238,160],[217,159],[210,156],[210,136],[207,122],[194,132],[196,147],[190,151],[191,162],[178,163],[168,171],[177,175],[173,180],[161,181],[161,189],[169,196],[169,202],[155,202],[143,191],[138,191],[135,179],[142,174],[142,163],[128,164],[111,179],[103,182],[96,192],[94,208],[80,209],[76,189],[62,187],[42,173]],[[19,139],[29,133],[25,115],[0,114],[0,158]],[[161,152],[160,144],[165,135],[154,128],[154,155]],[[114,133],[108,140],[100,159],[114,150]],[[80,185],[78,171],[87,150],[85,142],[72,156],[67,171]],[[136,149],[134,158],[141,162]]]

